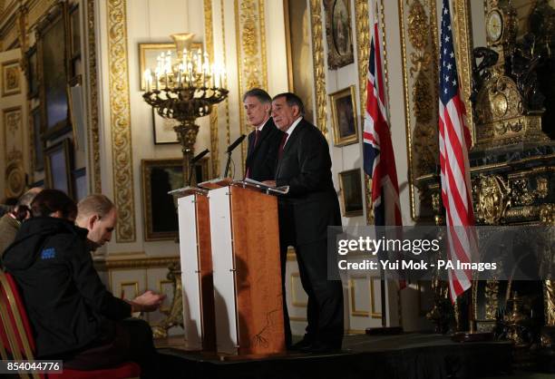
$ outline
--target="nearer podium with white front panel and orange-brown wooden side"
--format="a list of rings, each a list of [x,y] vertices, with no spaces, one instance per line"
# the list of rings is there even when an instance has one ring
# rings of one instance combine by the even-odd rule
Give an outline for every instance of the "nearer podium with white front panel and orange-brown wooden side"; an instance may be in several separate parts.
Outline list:
[[[282,353],[277,199],[235,183],[209,190],[209,203],[217,351]]]

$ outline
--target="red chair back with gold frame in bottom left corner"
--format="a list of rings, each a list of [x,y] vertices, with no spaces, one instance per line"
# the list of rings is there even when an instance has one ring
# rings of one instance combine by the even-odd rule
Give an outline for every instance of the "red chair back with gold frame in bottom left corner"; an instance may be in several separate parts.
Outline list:
[[[2,359],[34,361],[34,337],[24,303],[14,277],[0,270],[0,339]],[[44,378],[43,374],[20,374]]]

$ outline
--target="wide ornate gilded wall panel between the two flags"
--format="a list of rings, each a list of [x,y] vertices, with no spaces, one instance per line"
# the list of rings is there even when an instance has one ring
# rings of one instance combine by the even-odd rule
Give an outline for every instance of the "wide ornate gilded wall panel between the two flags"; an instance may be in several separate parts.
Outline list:
[[[399,0],[398,6],[411,218],[419,220],[432,218],[433,207],[415,179],[433,173],[439,156],[436,2]]]

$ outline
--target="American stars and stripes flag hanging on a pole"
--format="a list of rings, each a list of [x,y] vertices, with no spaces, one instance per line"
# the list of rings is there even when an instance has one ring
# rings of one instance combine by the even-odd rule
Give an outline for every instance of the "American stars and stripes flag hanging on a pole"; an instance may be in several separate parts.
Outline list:
[[[474,225],[468,163],[471,135],[464,122],[466,112],[459,91],[449,0],[443,0],[441,35],[439,145],[442,199],[449,229],[449,258],[456,265],[457,260],[471,262],[475,237],[468,228]],[[453,302],[471,287],[471,278],[469,270],[455,268],[449,271],[449,293]]]

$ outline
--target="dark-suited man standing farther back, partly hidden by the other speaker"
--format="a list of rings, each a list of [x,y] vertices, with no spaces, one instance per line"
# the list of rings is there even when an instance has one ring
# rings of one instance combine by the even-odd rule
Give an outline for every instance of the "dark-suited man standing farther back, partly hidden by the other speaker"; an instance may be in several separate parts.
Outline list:
[[[252,180],[273,180],[276,174],[277,148],[281,135],[270,117],[272,98],[268,92],[253,88],[243,95],[248,122],[254,131],[248,134],[245,177]]]

